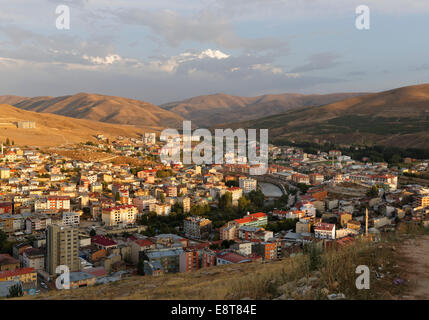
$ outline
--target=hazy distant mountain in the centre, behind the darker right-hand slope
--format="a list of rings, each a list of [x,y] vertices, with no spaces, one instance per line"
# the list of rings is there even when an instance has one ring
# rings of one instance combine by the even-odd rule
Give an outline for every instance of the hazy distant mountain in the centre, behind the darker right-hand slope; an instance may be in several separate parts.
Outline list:
[[[161,105],[161,108],[190,119],[199,126],[210,127],[222,123],[258,119],[306,106],[324,105],[358,95],[362,93],[325,95],[285,93],[250,98],[214,94],[167,103]]]

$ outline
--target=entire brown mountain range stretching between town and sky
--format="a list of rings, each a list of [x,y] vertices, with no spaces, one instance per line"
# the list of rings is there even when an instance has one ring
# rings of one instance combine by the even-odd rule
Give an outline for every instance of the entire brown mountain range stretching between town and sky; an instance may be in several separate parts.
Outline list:
[[[56,136],[58,130],[68,130],[67,123],[73,125],[73,129],[81,128],[86,139],[98,129],[106,132],[109,128],[115,132],[129,130],[131,133],[150,129],[158,132],[163,128],[181,128],[182,121],[188,119],[197,126],[212,129],[267,128],[273,142],[329,141],[429,148],[429,84],[370,94],[288,93],[259,97],[215,94],[161,106],[88,93],[34,98],[7,95],[0,96],[1,103],[13,105],[15,108],[9,106],[13,109],[8,110],[13,110],[14,114],[37,118],[38,122],[46,124],[46,128],[53,121],[58,121],[53,131],[48,130]],[[32,113],[25,114],[25,111]],[[53,114],[62,117],[52,118]]]

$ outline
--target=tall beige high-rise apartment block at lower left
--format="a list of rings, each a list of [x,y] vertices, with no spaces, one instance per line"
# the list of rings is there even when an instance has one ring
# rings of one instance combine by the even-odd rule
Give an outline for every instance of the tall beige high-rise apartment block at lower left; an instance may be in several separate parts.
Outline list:
[[[59,265],[66,265],[70,272],[79,271],[79,229],[49,225],[46,231],[46,271],[56,274]]]

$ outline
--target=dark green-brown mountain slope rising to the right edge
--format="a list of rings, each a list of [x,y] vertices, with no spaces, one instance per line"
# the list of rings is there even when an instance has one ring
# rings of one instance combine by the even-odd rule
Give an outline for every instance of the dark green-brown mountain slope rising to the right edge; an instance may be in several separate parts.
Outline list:
[[[429,84],[367,94],[223,126],[268,128],[272,141],[326,140],[344,144],[429,148]]]

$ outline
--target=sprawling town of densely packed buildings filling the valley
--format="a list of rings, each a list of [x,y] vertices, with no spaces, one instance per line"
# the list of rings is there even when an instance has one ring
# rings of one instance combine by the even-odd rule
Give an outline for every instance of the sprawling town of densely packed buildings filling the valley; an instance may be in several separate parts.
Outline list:
[[[429,226],[429,188],[412,180],[427,159],[270,144],[266,173],[251,175],[258,165],[161,162],[155,133],[43,149],[11,140],[0,155],[0,297],[61,289],[59,266],[74,289]]]

